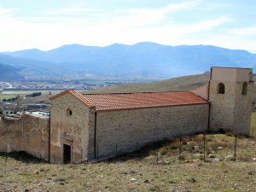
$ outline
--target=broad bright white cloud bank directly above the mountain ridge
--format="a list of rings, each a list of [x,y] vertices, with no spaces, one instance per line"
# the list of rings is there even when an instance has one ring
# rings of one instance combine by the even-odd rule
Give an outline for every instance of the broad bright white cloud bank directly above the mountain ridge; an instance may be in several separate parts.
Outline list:
[[[255,50],[256,26],[227,31],[218,30],[233,21],[227,16],[197,20],[189,24],[172,20],[172,13],[193,8],[201,1],[168,4],[158,9],[126,9],[93,12],[89,17],[68,15],[92,12],[92,9],[67,7],[34,18],[16,18],[14,9],[0,9],[0,51],[17,49],[53,49],[63,44],[108,45],[151,41],[159,44],[213,44],[233,49]],[[62,16],[64,15],[64,17]],[[65,16],[67,15],[67,17]],[[171,15],[171,17],[170,17]],[[168,20],[168,22],[166,22]],[[172,23],[172,24],[170,24]]]

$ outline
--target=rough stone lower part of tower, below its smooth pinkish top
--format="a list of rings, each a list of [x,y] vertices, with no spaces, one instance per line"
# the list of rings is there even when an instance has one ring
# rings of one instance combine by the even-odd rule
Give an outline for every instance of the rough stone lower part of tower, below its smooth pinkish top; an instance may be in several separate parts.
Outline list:
[[[224,94],[218,94],[219,83],[225,86]],[[250,134],[253,83],[247,82],[246,96],[241,95],[242,84],[243,82],[210,81],[210,130],[224,129]]]

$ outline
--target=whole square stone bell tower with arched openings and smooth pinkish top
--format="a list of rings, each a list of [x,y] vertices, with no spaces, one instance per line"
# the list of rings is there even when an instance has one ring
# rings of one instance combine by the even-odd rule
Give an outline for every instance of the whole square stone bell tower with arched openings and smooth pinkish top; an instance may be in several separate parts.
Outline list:
[[[212,67],[208,100],[209,129],[249,135],[253,102],[251,68]]]

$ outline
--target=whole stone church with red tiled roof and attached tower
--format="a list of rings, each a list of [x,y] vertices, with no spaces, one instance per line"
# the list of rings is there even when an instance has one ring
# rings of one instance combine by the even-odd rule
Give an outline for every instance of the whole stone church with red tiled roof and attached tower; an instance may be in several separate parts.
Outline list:
[[[49,161],[104,160],[144,145],[203,131],[249,135],[250,68],[212,67],[207,87],[193,91],[51,97]]]

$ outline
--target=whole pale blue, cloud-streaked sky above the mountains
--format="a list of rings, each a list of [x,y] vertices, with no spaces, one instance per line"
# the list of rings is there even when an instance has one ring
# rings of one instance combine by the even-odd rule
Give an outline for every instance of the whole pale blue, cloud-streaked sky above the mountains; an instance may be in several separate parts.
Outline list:
[[[0,51],[212,44],[256,53],[253,0],[0,0]]]

